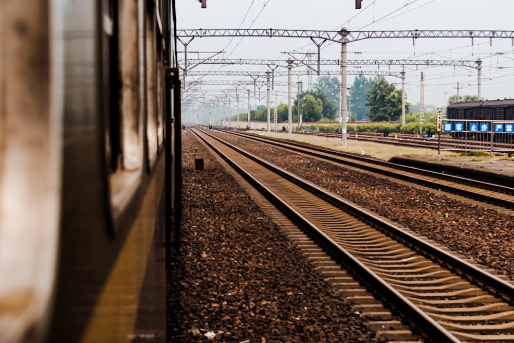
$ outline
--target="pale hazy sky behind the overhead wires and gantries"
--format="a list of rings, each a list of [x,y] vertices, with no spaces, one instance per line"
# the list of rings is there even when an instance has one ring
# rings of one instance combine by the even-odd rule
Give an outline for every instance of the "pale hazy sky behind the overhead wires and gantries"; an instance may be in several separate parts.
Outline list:
[[[514,30],[514,0],[362,0],[362,9],[355,9],[354,0],[207,0],[207,9],[201,9],[198,0],[176,2],[178,29],[236,29],[275,28],[339,30]],[[177,49],[183,51],[182,44]],[[213,55],[204,51],[221,51],[216,58],[226,59],[279,59],[289,56],[283,52],[316,50],[309,39],[301,38],[195,38],[188,46],[188,58],[206,58]],[[317,50],[316,50],[317,51]],[[325,42],[321,58],[341,58],[340,44]],[[301,58],[301,55],[295,55]],[[183,53],[179,53],[179,59]],[[314,58],[314,57],[313,57]],[[348,60],[464,60],[481,58],[482,97],[486,99],[514,98],[514,46],[511,39],[368,39],[348,44]],[[202,65],[193,70],[257,70],[266,66]],[[323,70],[337,70],[337,66],[322,66]],[[277,70],[286,70],[279,68]],[[306,70],[300,66],[294,70]],[[376,66],[362,66],[348,70],[378,70]],[[381,65],[381,71],[401,71],[401,66]],[[420,98],[420,73],[425,79],[425,104],[443,106],[446,98],[477,94],[477,71],[466,67],[406,66],[407,101],[415,104]],[[187,82],[197,79],[188,77]],[[234,77],[204,77],[203,80],[235,80]],[[239,78],[251,81],[250,78]],[[348,76],[348,84],[353,83]],[[401,89],[401,80],[387,77]],[[287,76],[277,78],[287,81]],[[293,77],[293,85],[298,78]],[[307,77],[301,77],[303,89]],[[316,76],[313,77],[316,81]],[[203,86],[210,90],[215,86]],[[222,86],[221,88],[233,88]],[[293,86],[294,88],[294,86]],[[240,88],[241,89],[241,88]],[[253,90],[253,87],[251,87]],[[281,101],[287,103],[287,86],[277,87]],[[261,90],[265,92],[265,87]],[[294,96],[294,95],[293,95]],[[254,100],[257,101],[257,100]],[[257,101],[258,102],[258,101]],[[265,99],[260,103],[265,104]]]

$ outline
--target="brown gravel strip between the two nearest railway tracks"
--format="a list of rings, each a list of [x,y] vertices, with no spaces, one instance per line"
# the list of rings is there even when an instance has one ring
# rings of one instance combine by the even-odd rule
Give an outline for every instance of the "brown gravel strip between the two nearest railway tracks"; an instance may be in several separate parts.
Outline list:
[[[212,131],[211,131],[212,132]],[[513,279],[512,216],[224,134],[258,155]]]

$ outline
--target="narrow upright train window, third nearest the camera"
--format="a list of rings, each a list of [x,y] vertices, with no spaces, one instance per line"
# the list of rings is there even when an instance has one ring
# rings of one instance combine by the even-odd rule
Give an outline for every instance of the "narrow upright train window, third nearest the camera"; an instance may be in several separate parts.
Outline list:
[[[156,64],[156,28],[155,4],[148,2],[146,6],[146,141],[148,147],[149,166],[157,156],[157,64]]]

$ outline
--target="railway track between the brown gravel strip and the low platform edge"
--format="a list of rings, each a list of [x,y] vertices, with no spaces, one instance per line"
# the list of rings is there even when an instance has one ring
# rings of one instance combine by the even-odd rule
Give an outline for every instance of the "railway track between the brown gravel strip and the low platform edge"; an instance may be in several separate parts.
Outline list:
[[[340,165],[351,166],[368,172],[401,179],[409,183],[464,196],[493,206],[499,206],[510,210],[514,209],[514,188],[511,187],[430,170],[392,164],[386,161],[306,146],[301,143],[291,141],[231,131],[227,132],[238,137],[252,139],[274,147],[329,160]]]

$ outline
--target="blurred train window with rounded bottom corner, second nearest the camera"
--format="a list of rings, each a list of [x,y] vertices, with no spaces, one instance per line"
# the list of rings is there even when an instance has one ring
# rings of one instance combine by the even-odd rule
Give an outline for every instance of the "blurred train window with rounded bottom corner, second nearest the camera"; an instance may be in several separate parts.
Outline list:
[[[143,163],[143,0],[109,1],[114,8],[111,42],[111,203],[116,219],[139,185]],[[117,7],[117,8],[116,8]],[[113,57],[113,55],[115,57]],[[114,95],[114,96],[113,96]]]

